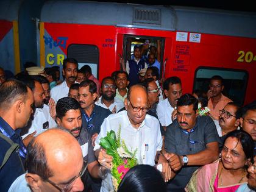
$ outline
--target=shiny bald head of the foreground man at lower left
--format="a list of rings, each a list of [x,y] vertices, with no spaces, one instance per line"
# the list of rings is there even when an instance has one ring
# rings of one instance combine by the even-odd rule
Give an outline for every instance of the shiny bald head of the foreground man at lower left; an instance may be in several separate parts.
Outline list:
[[[49,129],[41,133],[31,141],[27,151],[28,172],[37,174],[42,179],[64,175],[64,168],[82,166],[83,162],[76,138],[61,129]]]

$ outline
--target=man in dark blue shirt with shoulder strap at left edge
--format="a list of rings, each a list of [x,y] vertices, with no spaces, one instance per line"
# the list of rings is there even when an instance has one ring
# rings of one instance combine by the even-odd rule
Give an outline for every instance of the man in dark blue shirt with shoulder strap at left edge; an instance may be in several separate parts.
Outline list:
[[[33,103],[33,93],[23,82],[9,80],[1,85],[0,191],[7,191],[16,177],[24,173],[27,151],[18,128],[26,126],[33,112]]]

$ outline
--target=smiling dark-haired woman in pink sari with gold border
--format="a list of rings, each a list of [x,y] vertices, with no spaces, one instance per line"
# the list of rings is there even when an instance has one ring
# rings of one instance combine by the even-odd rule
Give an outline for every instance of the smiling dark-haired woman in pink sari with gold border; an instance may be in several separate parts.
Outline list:
[[[254,141],[243,130],[227,133],[221,158],[197,169],[185,191],[235,192],[247,183],[247,169],[254,158]]]

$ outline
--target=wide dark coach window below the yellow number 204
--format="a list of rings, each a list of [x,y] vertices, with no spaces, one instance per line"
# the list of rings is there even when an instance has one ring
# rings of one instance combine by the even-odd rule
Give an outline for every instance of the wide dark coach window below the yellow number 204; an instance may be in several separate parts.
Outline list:
[[[206,68],[196,69],[194,77],[194,90],[201,90],[207,93],[210,78],[212,76],[221,76],[224,79],[223,94],[240,105],[243,105],[248,80],[247,71],[224,68]]]

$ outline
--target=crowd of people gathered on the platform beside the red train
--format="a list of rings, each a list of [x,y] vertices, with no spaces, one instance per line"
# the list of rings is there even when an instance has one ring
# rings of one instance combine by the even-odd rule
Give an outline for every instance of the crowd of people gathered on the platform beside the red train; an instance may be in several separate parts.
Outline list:
[[[114,191],[100,144],[110,130],[137,149],[120,192],[255,191],[256,101],[231,101],[220,76],[207,93],[183,93],[179,77],[159,79],[155,57],[135,46],[101,82],[72,58],[63,81],[56,67],[10,79],[0,68],[0,191]]]

